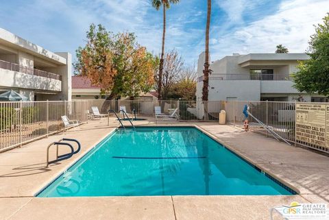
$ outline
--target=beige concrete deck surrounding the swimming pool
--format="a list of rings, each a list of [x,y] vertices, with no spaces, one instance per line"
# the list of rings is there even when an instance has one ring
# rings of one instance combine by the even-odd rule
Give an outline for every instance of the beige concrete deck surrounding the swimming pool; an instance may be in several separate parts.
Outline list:
[[[42,138],[0,154],[0,219],[269,219],[269,209],[300,203],[329,203],[329,157],[229,125],[197,125],[223,145],[300,192],[291,196],[34,197],[43,186],[115,130],[111,118],[88,121],[78,130]],[[125,124],[128,124],[126,121]],[[154,119],[136,125],[155,125]],[[46,148],[60,138],[77,138],[82,151],[45,169]],[[55,156],[55,147],[51,156]]]

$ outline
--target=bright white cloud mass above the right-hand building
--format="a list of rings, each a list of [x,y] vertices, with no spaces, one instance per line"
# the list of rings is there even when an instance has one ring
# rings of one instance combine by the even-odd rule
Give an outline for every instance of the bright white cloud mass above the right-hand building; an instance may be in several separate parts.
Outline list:
[[[321,23],[329,8],[328,0],[289,0],[279,10],[263,19],[239,27],[224,36],[219,32],[219,44],[211,48],[212,58],[238,53],[273,53],[276,45],[286,46],[292,53],[302,53],[308,47],[314,26]],[[222,42],[222,43],[221,43]]]

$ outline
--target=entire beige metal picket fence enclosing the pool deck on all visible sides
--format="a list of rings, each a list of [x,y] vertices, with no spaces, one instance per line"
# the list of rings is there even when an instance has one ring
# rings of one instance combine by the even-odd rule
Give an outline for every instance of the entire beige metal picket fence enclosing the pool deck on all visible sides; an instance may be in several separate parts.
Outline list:
[[[105,99],[0,102],[0,151],[61,131],[62,115],[80,122],[88,121],[87,113],[92,112],[92,106],[97,106],[101,113],[108,113],[108,110],[119,112],[120,106],[125,106],[127,113],[136,114],[137,117],[153,117],[154,107],[160,106],[162,113],[175,112],[180,121],[218,121],[219,112],[225,110],[227,124],[242,127],[245,105],[249,106],[249,112],[254,117],[285,140],[329,153],[329,148],[295,139],[296,102]],[[269,136],[267,130],[252,117],[249,117],[249,128]]]

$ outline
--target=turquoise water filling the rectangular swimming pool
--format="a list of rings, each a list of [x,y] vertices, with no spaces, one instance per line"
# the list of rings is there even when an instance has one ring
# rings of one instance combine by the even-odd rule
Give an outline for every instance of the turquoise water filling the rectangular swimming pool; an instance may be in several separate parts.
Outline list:
[[[117,130],[38,197],[291,195],[194,127]]]

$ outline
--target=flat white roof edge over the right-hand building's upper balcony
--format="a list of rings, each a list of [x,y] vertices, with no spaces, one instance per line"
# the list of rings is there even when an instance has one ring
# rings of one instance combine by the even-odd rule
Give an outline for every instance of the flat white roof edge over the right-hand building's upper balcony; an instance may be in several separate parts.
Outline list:
[[[251,60],[308,60],[306,53],[249,53],[239,56],[239,64]]]

